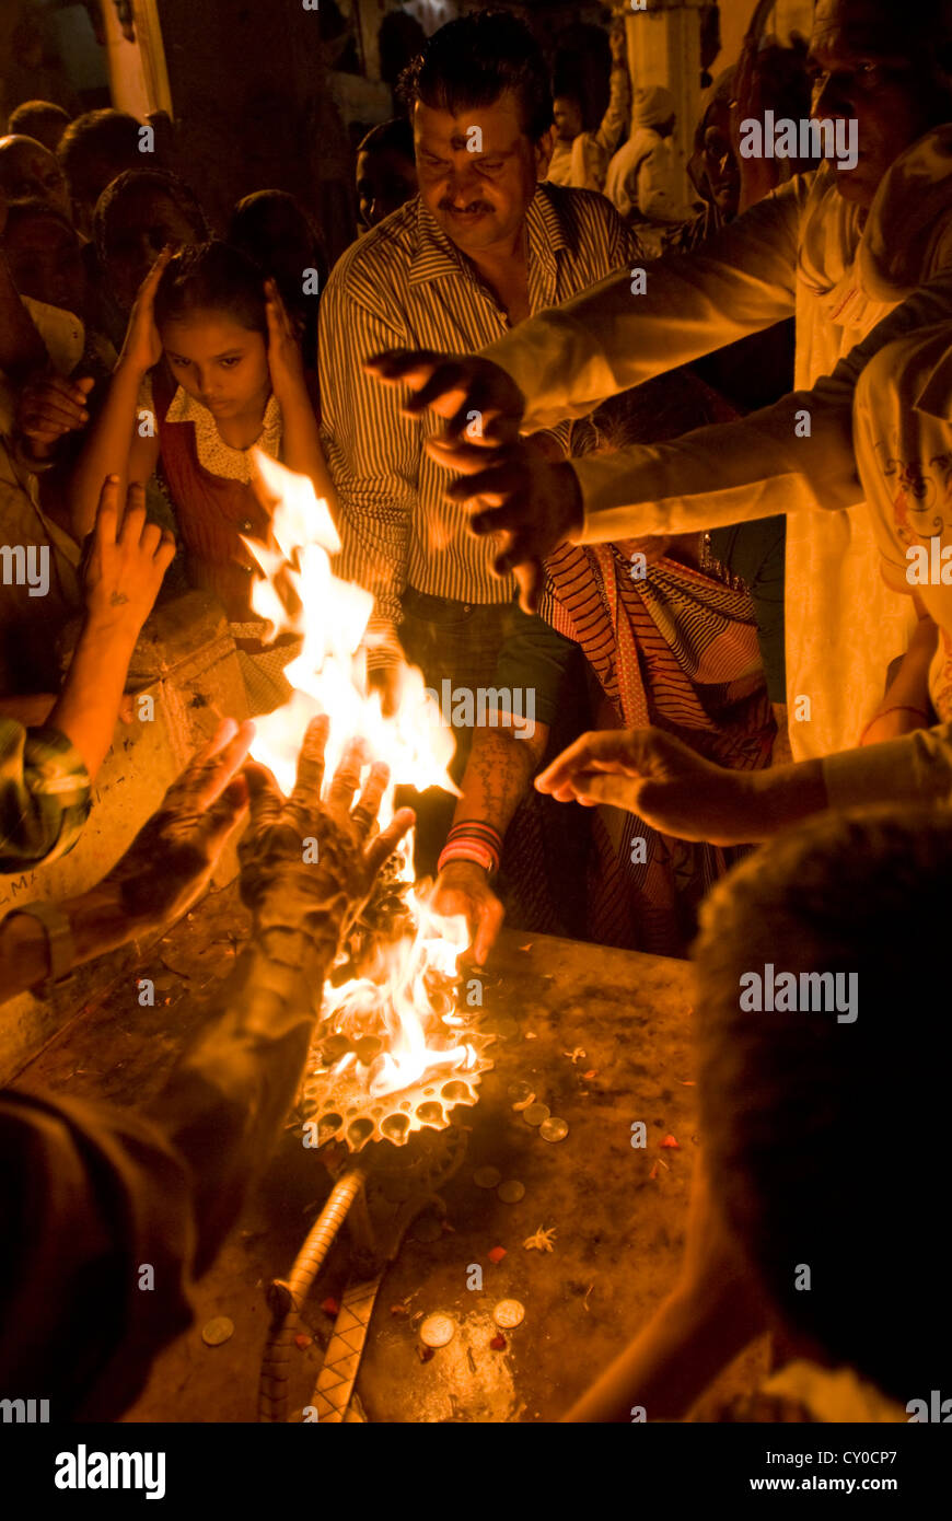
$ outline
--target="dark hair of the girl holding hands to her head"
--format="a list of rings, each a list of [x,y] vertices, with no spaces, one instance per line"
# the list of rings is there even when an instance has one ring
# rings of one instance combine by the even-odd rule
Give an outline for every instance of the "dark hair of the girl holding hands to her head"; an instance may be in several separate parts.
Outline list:
[[[239,327],[268,339],[262,271],[230,243],[192,243],[175,254],[155,292],[155,324],[178,322],[193,312],[227,312]]]

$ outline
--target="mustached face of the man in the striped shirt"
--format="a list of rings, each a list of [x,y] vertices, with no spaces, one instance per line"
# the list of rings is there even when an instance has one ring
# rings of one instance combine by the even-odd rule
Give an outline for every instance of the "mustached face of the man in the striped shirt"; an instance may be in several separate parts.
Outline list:
[[[532,143],[506,90],[493,105],[452,116],[414,110],[420,195],[462,252],[512,239],[552,158],[552,131]]]

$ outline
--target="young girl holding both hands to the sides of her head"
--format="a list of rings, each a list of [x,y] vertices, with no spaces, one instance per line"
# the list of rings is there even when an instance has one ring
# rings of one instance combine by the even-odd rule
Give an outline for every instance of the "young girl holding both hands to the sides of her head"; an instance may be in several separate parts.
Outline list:
[[[304,367],[277,286],[227,243],[196,243],[155,262],[141,284],[109,394],[71,481],[73,534],[91,528],[106,475],[148,481],[160,470],[175,506],[193,586],[231,622],[254,712],[289,695],[280,669],[294,640],[262,642],[251,608],[257,569],[242,534],[268,538],[269,513],[251,487],[257,444],[333,488]],[[290,646],[290,648],[289,648]]]

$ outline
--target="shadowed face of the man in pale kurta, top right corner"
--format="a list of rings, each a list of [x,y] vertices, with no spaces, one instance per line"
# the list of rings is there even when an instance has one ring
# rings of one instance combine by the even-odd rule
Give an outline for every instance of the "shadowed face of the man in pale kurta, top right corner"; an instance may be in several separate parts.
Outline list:
[[[903,52],[900,12],[884,0],[820,0],[808,71],[811,114],[858,123],[856,167],[836,169],[833,181],[844,201],[868,207],[893,160],[944,119]]]

